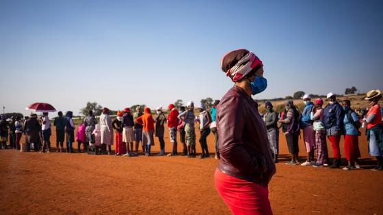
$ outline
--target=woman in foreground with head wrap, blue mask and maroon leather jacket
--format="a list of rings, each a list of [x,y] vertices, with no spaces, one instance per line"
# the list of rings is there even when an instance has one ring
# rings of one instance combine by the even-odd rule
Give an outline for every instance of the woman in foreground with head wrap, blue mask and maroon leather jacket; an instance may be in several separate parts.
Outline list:
[[[235,86],[217,106],[220,163],[215,188],[233,214],[272,214],[267,185],[276,172],[265,124],[251,95],[265,90],[263,64],[246,49],[222,57]]]

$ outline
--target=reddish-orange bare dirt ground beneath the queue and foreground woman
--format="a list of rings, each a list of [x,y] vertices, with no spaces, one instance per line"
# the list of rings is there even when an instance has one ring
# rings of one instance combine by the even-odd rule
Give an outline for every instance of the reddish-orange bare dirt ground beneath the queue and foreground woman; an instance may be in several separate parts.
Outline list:
[[[51,141],[55,145],[55,137]],[[169,152],[168,134],[165,141]],[[212,134],[208,145],[209,152],[214,152]],[[341,145],[344,152],[343,139]],[[305,156],[302,139],[300,149],[300,156]],[[158,151],[156,139],[153,152]],[[362,165],[375,164],[367,154],[364,134],[360,151]],[[285,164],[287,153],[281,136],[282,162],[276,164],[277,173],[269,184],[274,214],[382,213],[383,172],[291,166]],[[127,158],[1,150],[0,214],[230,214],[214,188],[217,163],[214,158],[181,156]]]

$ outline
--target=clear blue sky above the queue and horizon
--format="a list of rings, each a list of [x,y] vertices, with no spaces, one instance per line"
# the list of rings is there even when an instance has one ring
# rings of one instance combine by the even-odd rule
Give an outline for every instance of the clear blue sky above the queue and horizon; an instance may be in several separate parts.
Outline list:
[[[0,104],[74,111],[220,99],[220,58],[248,48],[268,87],[382,88],[383,1],[0,1]]]

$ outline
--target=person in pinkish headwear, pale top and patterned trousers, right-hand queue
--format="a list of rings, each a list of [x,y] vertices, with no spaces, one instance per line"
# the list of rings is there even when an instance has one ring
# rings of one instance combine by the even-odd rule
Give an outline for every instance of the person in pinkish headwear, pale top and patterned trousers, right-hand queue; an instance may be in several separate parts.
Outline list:
[[[317,98],[311,109],[310,119],[313,120],[315,130],[315,148],[317,149],[317,161],[313,167],[324,167],[328,165],[328,151],[326,143],[326,128],[323,125],[323,100]]]

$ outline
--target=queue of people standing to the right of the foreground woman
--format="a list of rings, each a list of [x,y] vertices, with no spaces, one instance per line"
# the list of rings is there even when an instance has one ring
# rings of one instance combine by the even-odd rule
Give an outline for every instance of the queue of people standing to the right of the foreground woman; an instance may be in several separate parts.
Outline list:
[[[326,137],[330,141],[334,158],[329,168],[341,167],[341,150],[339,142],[344,135],[345,157],[347,166],[344,170],[358,169],[360,167],[360,150],[358,145],[359,129],[366,128],[369,154],[375,156],[377,166],[372,170],[383,170],[383,126],[382,111],[379,100],[382,98],[380,90],[371,90],[367,93],[365,100],[369,101],[369,111],[365,117],[359,118],[357,113],[351,109],[350,100],[343,100],[339,104],[336,95],[331,92],[327,95],[328,104],[323,108],[323,100],[317,98],[311,102],[311,96],[304,95],[304,109],[300,113],[293,104],[293,100],[285,101],[285,111],[278,115],[273,110],[271,102],[265,102],[267,113],[263,116],[267,128],[269,147],[272,151],[274,162],[278,162],[279,130],[285,134],[287,147],[291,154],[291,161],[287,164],[300,164],[298,160],[298,139],[303,131],[304,145],[307,160],[302,166],[326,167],[329,163]],[[367,124],[367,126],[362,126]],[[315,159],[316,150],[316,159]]]

